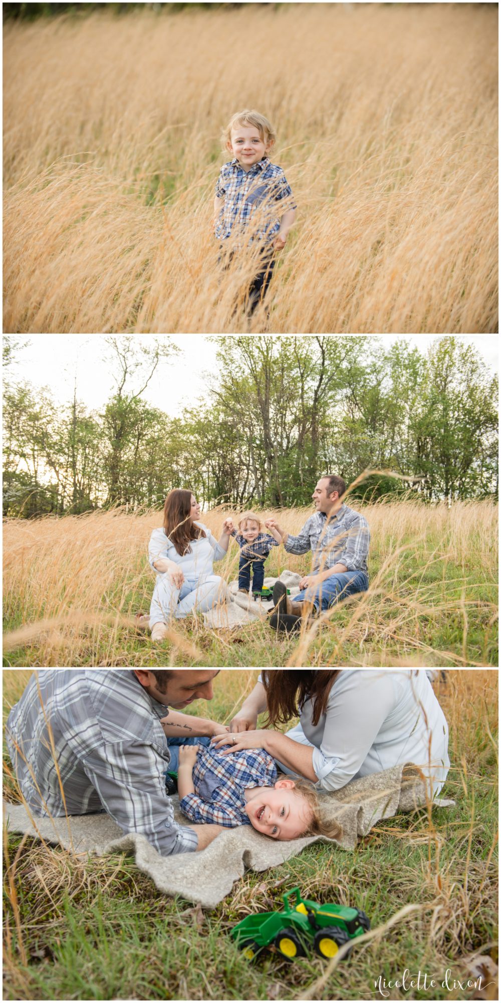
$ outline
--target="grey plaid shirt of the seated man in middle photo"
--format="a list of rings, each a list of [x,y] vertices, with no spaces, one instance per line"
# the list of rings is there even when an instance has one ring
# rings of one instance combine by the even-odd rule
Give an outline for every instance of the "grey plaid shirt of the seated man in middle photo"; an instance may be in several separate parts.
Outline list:
[[[289,534],[284,547],[289,554],[314,555],[313,571],[344,564],[348,571],[365,571],[371,534],[364,516],[342,505],[333,519],[316,512],[297,537]]]

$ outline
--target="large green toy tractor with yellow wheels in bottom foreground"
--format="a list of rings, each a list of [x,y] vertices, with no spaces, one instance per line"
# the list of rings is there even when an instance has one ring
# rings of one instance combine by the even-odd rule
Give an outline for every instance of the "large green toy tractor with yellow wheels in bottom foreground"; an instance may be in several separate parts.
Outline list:
[[[293,896],[296,901],[291,905]],[[320,906],[303,899],[299,888],[293,888],[282,898],[282,913],[247,916],[231,930],[231,937],[248,961],[267,948],[288,961],[295,961],[307,957],[312,946],[321,958],[330,960],[344,944],[371,929],[369,917],[360,909]]]

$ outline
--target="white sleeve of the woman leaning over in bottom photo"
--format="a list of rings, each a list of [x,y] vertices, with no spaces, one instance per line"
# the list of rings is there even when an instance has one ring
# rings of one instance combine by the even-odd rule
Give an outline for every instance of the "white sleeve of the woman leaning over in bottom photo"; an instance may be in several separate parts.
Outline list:
[[[322,744],[313,753],[317,786],[323,790],[338,790],[353,780],[395,706],[393,673],[364,675],[344,679],[342,673],[333,686]]]

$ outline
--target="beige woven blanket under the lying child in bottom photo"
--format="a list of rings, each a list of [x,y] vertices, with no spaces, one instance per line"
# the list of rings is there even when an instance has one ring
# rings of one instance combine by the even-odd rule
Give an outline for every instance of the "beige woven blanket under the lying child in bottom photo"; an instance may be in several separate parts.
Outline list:
[[[179,813],[178,798],[173,800],[177,820],[185,823]],[[332,843],[343,850],[354,850],[358,840],[382,818],[412,811],[426,804],[426,800],[423,774],[417,766],[408,763],[353,780],[346,787],[322,796],[326,818],[334,818],[343,826],[343,837],[339,841],[314,835],[279,843],[257,832],[252,825],[240,825],[225,828],[200,853],[174,857],[160,857],[143,835],[124,835],[105,812],[68,818],[33,816],[33,825],[24,805],[4,801],[4,820],[9,831],[38,835],[75,854],[132,853],[138,869],[151,878],[160,892],[180,895],[204,909],[213,909],[231,892],[234,882],[246,870],[260,872],[276,868],[319,841]],[[443,798],[435,800],[434,804],[446,807],[454,801]]]

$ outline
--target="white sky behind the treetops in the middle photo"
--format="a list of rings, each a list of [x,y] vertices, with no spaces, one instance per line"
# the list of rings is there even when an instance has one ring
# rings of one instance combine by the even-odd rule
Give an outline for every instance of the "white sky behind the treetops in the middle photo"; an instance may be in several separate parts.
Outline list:
[[[359,337],[371,337],[371,335],[359,335]],[[489,369],[493,373],[498,371],[496,337],[493,335],[456,335],[456,337],[463,343],[474,345]],[[436,337],[427,334],[382,336],[382,340],[387,344],[398,339],[408,341],[426,353]],[[48,386],[56,402],[65,403],[73,396],[76,376],[77,398],[90,410],[101,408],[113,392],[113,367],[104,360],[106,346],[102,335],[36,334],[31,337],[19,336],[12,340],[18,341],[24,347],[16,353],[16,363],[9,370],[9,381],[28,380],[35,387]],[[134,335],[133,340],[134,343],[147,344],[152,338],[150,335]],[[158,336],[158,340],[161,340],[161,336]],[[158,366],[144,391],[143,399],[173,417],[178,415],[183,407],[205,396],[204,374],[215,373],[216,346],[208,340],[208,337],[201,334],[173,336],[170,340],[179,347],[179,354],[169,364],[162,362]],[[137,386],[134,386],[134,389],[136,388]]]

